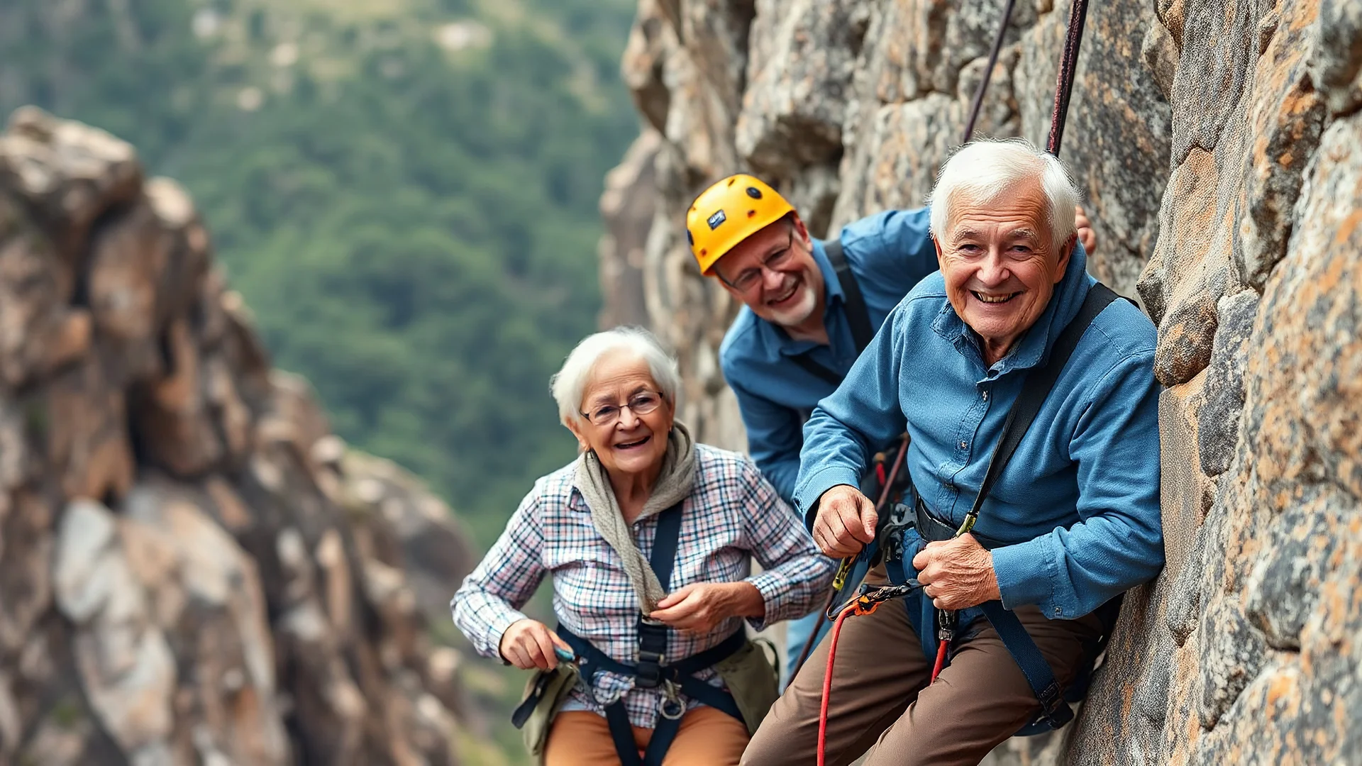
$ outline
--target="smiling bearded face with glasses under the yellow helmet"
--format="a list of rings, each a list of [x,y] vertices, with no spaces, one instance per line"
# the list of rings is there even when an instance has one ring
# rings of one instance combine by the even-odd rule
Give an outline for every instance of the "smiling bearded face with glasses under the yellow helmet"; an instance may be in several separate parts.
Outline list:
[[[772,324],[798,327],[823,308],[823,271],[798,217],[742,240],[714,270],[730,294]]]

